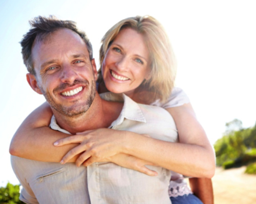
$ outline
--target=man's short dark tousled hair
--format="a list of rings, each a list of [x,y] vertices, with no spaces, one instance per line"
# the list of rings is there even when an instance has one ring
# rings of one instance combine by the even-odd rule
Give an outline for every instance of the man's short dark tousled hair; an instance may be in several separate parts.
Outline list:
[[[79,31],[76,27],[76,23],[71,20],[59,20],[55,16],[43,17],[38,16],[29,21],[31,25],[31,29],[28,33],[23,36],[20,44],[22,45],[22,55],[23,61],[26,65],[28,71],[31,74],[36,74],[33,67],[33,59],[32,59],[32,46],[37,40],[44,40],[49,34],[55,32],[58,29],[70,29],[77,33],[86,43],[87,49],[90,55],[90,60],[93,58],[93,50],[91,42],[89,41],[86,33]]]

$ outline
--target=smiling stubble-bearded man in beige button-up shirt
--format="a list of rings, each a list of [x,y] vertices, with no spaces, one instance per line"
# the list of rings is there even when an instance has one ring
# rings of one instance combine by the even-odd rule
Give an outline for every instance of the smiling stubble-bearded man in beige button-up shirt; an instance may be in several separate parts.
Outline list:
[[[50,104],[52,129],[75,134],[111,127],[177,140],[165,110],[138,105],[124,95],[124,105],[100,98],[91,44],[73,22],[38,17],[32,25],[22,41],[27,81]],[[102,97],[120,100],[112,94]],[[23,186],[20,199],[27,203],[170,203],[170,171],[158,166],[151,166],[157,176],[111,162],[77,168],[12,157],[12,166]]]

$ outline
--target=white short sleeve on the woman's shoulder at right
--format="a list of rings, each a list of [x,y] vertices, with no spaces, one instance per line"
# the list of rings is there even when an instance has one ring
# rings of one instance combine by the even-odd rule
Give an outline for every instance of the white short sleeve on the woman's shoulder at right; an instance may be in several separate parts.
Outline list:
[[[172,93],[164,103],[160,102],[160,100],[156,100],[151,105],[167,109],[182,106],[188,103],[190,103],[190,101],[187,94],[181,88],[175,87],[173,88]]]

